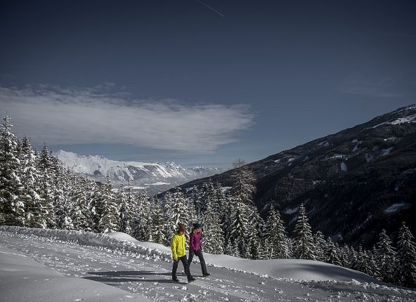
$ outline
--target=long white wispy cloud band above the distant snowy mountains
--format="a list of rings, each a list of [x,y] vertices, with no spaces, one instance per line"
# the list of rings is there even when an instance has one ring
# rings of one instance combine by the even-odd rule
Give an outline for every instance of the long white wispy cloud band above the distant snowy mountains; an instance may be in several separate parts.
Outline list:
[[[18,135],[37,145],[122,144],[193,153],[233,143],[253,124],[246,105],[134,100],[111,92],[112,86],[0,87],[1,113],[7,110]]]

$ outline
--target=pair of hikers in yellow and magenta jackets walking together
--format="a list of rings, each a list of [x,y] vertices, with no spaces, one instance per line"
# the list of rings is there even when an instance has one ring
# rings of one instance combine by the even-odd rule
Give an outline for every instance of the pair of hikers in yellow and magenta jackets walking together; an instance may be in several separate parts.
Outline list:
[[[179,223],[178,230],[176,230],[174,237],[172,237],[171,242],[171,250],[172,250],[172,258],[174,258],[174,266],[172,268],[172,280],[174,282],[178,282],[178,278],[176,277],[176,270],[178,269],[179,261],[182,262],[183,268],[186,273],[186,277],[188,278],[188,282],[192,282],[195,278],[190,275],[189,265],[192,262],[193,255],[197,255],[200,258],[201,268],[202,268],[202,275],[204,277],[209,276],[207,273],[207,265],[205,264],[204,257],[202,256],[202,248],[201,248],[201,228],[202,225],[199,223],[195,223],[193,225],[192,232],[190,234],[190,247],[189,247],[189,260],[186,258],[186,249],[185,249],[185,233],[186,233],[186,225],[183,223]]]

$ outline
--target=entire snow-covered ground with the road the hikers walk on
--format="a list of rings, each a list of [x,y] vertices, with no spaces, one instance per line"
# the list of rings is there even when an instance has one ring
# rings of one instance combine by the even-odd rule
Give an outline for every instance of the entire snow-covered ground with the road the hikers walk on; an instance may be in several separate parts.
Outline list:
[[[2,301],[415,301],[416,291],[318,261],[204,254],[171,281],[169,247],[124,233],[0,227]],[[35,262],[36,261],[36,262]],[[181,270],[181,265],[179,266]]]

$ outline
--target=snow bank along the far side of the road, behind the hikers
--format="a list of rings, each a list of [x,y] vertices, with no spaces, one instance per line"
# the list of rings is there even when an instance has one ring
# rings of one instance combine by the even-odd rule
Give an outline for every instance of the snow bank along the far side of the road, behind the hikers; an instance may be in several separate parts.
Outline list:
[[[154,242],[140,242],[123,232],[97,234],[74,230],[48,230],[1,226],[0,231],[26,236],[45,237],[48,240],[117,249],[138,257],[171,261],[169,247]],[[300,259],[250,260],[228,255],[204,253],[208,265],[245,273],[297,281],[337,281],[382,284],[369,275],[330,263]],[[197,262],[197,261],[195,261]]]

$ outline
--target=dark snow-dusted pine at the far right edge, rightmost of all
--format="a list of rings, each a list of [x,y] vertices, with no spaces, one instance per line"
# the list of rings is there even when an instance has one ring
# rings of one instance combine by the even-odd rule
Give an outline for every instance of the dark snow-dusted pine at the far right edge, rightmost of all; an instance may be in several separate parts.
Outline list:
[[[396,282],[403,287],[416,288],[416,245],[403,221],[398,231]]]

